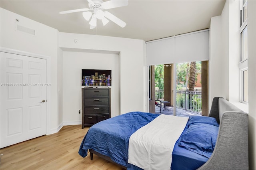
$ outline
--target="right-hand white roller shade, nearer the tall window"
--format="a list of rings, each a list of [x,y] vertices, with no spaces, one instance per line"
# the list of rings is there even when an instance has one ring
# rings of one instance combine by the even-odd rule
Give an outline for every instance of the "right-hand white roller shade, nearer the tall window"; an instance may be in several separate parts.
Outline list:
[[[175,63],[209,59],[209,31],[175,36]]]

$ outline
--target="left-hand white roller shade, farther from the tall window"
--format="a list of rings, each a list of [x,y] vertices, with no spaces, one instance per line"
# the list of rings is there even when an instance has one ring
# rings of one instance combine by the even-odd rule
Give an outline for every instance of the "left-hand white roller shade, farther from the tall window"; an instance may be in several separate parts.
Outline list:
[[[147,65],[174,63],[174,36],[146,44]]]

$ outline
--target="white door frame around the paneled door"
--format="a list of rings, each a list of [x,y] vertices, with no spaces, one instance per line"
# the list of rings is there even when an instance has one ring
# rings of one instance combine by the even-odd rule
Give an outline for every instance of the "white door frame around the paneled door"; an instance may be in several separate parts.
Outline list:
[[[46,59],[46,83],[47,84],[51,83],[51,74],[50,74],[51,58],[49,56],[40,55],[40,54],[36,54],[36,53],[29,53],[26,51],[20,51],[20,50],[10,49],[10,48],[6,48],[6,47],[0,47],[0,51],[5,52],[5,53],[17,54],[17,55],[25,55],[28,57]],[[1,90],[0,90],[0,93],[1,93]],[[50,114],[51,113],[50,104],[51,104],[51,87],[46,86],[46,135],[50,134],[50,115],[51,115]]]

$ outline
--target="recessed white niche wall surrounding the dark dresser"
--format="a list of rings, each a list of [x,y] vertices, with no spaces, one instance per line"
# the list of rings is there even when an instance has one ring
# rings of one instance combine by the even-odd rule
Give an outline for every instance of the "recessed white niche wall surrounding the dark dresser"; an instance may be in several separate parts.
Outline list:
[[[112,70],[111,115],[119,115],[119,55],[88,52],[63,52],[64,125],[80,125],[82,109],[82,69]]]

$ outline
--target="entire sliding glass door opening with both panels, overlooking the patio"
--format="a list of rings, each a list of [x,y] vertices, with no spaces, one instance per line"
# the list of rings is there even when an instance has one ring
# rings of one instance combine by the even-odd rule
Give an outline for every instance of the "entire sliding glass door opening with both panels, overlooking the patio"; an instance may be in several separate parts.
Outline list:
[[[208,61],[150,66],[150,113],[208,115]]]

